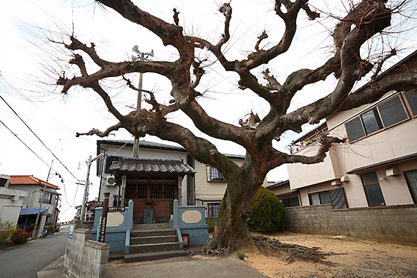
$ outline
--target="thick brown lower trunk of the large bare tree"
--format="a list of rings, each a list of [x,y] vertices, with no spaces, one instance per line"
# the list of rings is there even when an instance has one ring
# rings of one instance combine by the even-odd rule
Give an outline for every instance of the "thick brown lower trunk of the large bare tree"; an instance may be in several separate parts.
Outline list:
[[[226,247],[228,252],[235,249],[252,249],[254,243],[247,229],[247,219],[252,210],[250,201],[259,186],[249,186],[239,179],[227,182],[227,190],[220,204],[218,233],[206,245],[206,249]]]

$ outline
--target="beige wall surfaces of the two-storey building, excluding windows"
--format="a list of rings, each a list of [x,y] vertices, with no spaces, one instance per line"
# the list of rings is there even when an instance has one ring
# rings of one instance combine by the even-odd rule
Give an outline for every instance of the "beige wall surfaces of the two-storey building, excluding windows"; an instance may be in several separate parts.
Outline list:
[[[393,94],[389,93],[386,97],[389,98],[391,95]],[[382,101],[378,101],[377,104]],[[350,120],[352,116],[362,112],[365,108],[370,108],[370,106],[373,106],[373,104],[335,113],[328,117],[329,135],[347,138],[344,121]],[[416,138],[417,117],[414,117],[355,142],[334,145],[322,163],[314,165],[302,165],[301,163],[287,165],[291,189],[300,189],[302,205],[308,205],[308,193],[337,188],[337,186],[331,185],[332,181],[340,179],[346,172],[358,167],[365,167],[417,153],[417,144],[414,143]],[[311,144],[301,149],[297,154],[312,156],[316,154],[317,150],[318,146]],[[394,166],[400,170],[400,174],[394,177],[386,177],[386,170]],[[393,165],[369,169],[358,174],[349,174],[349,181],[341,184],[341,187],[345,189],[347,205],[350,208],[368,206],[360,174],[374,171],[379,178],[379,186],[386,205],[413,204],[403,172],[416,169],[417,159],[412,159]],[[309,191],[307,192],[307,190]]]

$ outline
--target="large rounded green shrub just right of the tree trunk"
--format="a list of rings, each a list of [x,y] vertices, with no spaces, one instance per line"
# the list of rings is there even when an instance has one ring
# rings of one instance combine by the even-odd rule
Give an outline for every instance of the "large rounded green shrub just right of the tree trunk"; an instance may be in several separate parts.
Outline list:
[[[252,216],[247,226],[254,231],[282,231],[286,225],[285,208],[270,190],[261,186],[250,202]]]

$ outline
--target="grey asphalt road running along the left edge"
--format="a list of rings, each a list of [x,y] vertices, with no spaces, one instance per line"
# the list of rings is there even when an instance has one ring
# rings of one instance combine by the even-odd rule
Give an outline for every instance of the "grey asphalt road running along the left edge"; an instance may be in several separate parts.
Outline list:
[[[36,278],[36,272],[65,252],[68,227],[47,238],[0,250],[1,278]]]

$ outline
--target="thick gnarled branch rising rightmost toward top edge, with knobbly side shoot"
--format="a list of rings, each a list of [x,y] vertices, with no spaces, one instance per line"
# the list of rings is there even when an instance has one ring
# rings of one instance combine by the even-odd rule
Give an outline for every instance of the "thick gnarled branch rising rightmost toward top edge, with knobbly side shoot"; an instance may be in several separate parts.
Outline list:
[[[352,90],[355,81],[358,81],[362,76],[370,72],[372,65],[367,61],[361,60],[359,49],[361,48],[361,45],[375,33],[378,33],[386,28],[386,26],[389,26],[391,22],[391,10],[385,8],[382,0],[377,2],[369,0],[366,2],[368,3],[368,6],[364,6],[365,12],[363,12],[366,13],[366,16],[364,17],[366,20],[357,19],[355,22],[356,27],[347,33],[343,39],[343,44],[338,51],[341,63],[341,77],[333,92],[313,104],[309,104],[292,113],[276,118],[273,121],[275,124],[272,124],[269,128],[263,129],[262,132],[258,133],[256,136],[263,138],[265,134],[270,134],[271,132],[275,133],[275,136],[277,136],[288,128],[299,131],[301,125],[305,122],[313,124],[323,117],[331,115],[342,106],[343,101],[345,101],[350,90]],[[354,9],[351,13],[359,13],[359,11]],[[351,15],[348,15],[345,18],[351,17]],[[335,42],[336,41],[337,40],[335,40]],[[305,84],[311,83],[311,81],[314,81],[315,79],[322,78],[320,77],[320,73],[325,73],[323,70],[325,70],[326,67],[330,67],[334,70],[337,63],[338,58],[335,57],[328,60],[325,67],[319,68],[316,72],[311,70],[296,72],[297,74],[301,74],[301,76],[296,78],[297,82],[294,83],[294,89],[302,88]],[[314,74],[315,77],[310,80],[308,78],[306,79],[306,76],[309,74]],[[288,79],[290,77],[291,76],[288,76]],[[284,83],[283,88],[291,85],[291,82],[288,81],[288,79],[286,83]],[[293,90],[290,90],[289,95],[292,95],[292,91]]]

